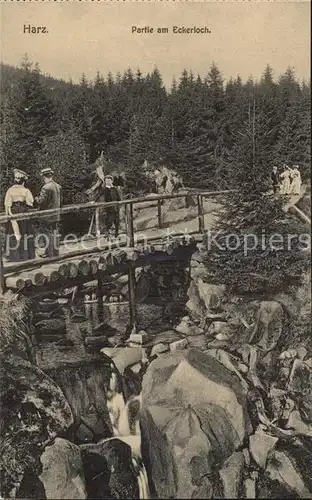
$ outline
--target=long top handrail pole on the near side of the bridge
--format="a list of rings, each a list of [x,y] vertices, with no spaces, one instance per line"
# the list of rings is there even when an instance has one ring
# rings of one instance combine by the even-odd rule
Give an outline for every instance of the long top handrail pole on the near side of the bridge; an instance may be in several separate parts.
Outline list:
[[[87,202],[87,203],[80,203],[80,204],[75,204],[75,205],[65,205],[61,208],[53,208],[49,210],[32,210],[30,212],[23,212],[19,214],[14,214],[14,215],[1,215],[0,216],[0,224],[4,224],[6,222],[12,221],[12,220],[30,220],[30,219],[38,219],[38,218],[44,218],[48,216],[53,216],[53,215],[63,215],[63,214],[68,214],[68,213],[74,213],[77,212],[78,210],[88,210],[88,209],[96,209],[96,208],[109,208],[109,207],[116,207],[116,206],[127,206],[127,205],[134,205],[137,203],[146,203],[152,202],[152,201],[162,201],[162,200],[170,200],[170,199],[175,199],[175,198],[185,198],[186,196],[201,196],[201,197],[207,197],[207,196],[218,196],[222,194],[228,194],[228,193],[233,193],[236,190],[231,189],[231,190],[224,190],[224,191],[186,191],[184,193],[174,193],[174,194],[161,194],[161,195],[155,195],[155,196],[142,196],[139,198],[128,198],[125,200],[121,201],[99,201],[99,202]]]

